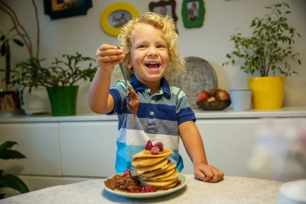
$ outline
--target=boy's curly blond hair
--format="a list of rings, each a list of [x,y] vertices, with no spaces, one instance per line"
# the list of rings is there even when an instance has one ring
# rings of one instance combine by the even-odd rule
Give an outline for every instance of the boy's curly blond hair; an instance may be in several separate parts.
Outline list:
[[[163,16],[153,12],[146,12],[135,19],[128,21],[118,35],[118,45],[125,49],[125,58],[122,63],[124,65],[123,67],[127,80],[131,80],[134,75],[133,69],[127,68],[127,63],[131,61],[132,40],[135,35],[135,27],[138,23],[147,23],[152,25],[155,28],[160,29],[163,33],[167,42],[170,59],[169,69],[164,75],[164,78],[171,80],[184,73],[186,71],[186,61],[178,52],[177,44],[179,41],[179,35],[176,33],[173,19],[168,15]]]

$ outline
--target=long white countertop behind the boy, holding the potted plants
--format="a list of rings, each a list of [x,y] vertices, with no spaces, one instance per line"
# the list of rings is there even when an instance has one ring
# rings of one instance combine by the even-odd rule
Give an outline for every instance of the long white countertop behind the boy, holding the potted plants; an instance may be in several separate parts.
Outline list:
[[[249,110],[235,112],[231,108],[222,111],[205,111],[193,109],[197,119],[222,118],[268,118],[268,117],[306,117],[306,107],[285,107],[277,110]],[[71,122],[71,121],[117,121],[117,115],[99,115],[89,113],[84,115],[53,117],[51,114],[33,115],[0,115],[0,123],[6,122]]]

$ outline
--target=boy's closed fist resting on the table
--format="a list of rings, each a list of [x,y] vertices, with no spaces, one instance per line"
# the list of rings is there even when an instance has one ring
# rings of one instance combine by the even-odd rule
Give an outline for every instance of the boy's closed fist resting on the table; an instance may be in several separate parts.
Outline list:
[[[216,183],[223,179],[224,173],[211,165],[199,163],[194,166],[194,176],[205,182]]]

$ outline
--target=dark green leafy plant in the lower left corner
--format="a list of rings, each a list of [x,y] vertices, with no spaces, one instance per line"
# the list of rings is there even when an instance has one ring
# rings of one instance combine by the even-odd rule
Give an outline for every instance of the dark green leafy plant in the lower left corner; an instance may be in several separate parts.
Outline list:
[[[19,151],[12,149],[12,147],[18,144],[14,141],[6,141],[0,145],[0,159],[24,159],[26,158]],[[0,169],[0,188],[12,188],[20,193],[29,192],[29,188],[24,182],[19,179],[18,176],[5,173],[3,169]],[[0,193],[0,199],[4,198],[5,194]]]

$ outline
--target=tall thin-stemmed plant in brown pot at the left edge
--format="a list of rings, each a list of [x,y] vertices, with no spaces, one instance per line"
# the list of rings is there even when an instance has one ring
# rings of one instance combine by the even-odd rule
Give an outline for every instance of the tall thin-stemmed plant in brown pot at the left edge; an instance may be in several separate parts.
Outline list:
[[[5,57],[5,69],[0,71],[5,72],[5,78],[2,80],[5,82],[5,89],[0,91],[0,113],[1,114],[23,114],[21,109],[18,92],[9,89],[10,84],[10,70],[11,70],[11,45],[15,43],[18,46],[23,47],[24,44],[17,38],[15,33],[15,27],[10,29],[7,35],[3,31],[0,31],[0,55]]]

